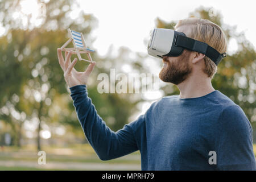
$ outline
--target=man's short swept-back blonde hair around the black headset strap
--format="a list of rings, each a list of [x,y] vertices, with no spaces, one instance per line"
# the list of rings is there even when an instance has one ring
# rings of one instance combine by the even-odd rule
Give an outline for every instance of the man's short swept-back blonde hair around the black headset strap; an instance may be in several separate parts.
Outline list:
[[[188,35],[186,35],[189,38],[205,42],[220,53],[226,52],[228,46],[225,34],[217,24],[207,19],[188,18],[179,20],[175,29],[181,26],[189,26],[190,31]],[[204,64],[205,68],[203,72],[206,73],[208,77],[213,78],[214,74],[217,72],[217,66],[207,56],[204,57]]]

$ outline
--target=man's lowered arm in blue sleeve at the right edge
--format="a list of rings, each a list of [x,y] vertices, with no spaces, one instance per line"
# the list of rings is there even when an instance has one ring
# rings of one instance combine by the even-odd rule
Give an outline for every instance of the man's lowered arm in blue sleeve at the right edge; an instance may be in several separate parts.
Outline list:
[[[224,109],[218,125],[218,169],[255,170],[252,129],[241,107],[232,105]]]

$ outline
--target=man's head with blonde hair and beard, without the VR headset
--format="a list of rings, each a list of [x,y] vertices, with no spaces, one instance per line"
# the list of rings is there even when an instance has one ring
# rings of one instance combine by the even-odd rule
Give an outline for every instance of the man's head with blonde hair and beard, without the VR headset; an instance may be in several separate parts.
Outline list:
[[[179,20],[175,30],[183,32],[189,38],[207,43],[220,53],[226,52],[227,42],[224,32],[210,20],[199,18]],[[175,85],[186,80],[192,72],[213,78],[217,71],[217,66],[209,57],[187,49],[177,57],[164,56],[163,63],[159,73],[160,79]]]

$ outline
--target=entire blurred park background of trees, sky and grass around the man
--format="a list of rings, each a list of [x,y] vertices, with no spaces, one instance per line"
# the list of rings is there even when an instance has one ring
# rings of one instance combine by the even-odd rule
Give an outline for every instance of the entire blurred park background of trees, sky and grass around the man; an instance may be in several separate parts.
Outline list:
[[[256,14],[250,3],[0,0],[0,170],[141,169],[138,151],[102,162],[88,144],[57,61],[68,28],[82,32],[87,46],[96,50],[89,97],[117,131],[155,100],[179,90],[160,81],[155,92],[100,94],[98,74],[109,75],[115,68],[118,73],[158,75],[162,61],[149,57],[146,48],[152,28],[174,28],[179,19],[191,16],[218,24],[229,47],[212,84],[242,107],[256,141]],[[84,71],[87,66],[79,61],[75,68]],[[42,150],[46,165],[38,164]]]

